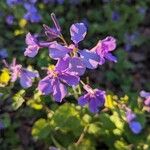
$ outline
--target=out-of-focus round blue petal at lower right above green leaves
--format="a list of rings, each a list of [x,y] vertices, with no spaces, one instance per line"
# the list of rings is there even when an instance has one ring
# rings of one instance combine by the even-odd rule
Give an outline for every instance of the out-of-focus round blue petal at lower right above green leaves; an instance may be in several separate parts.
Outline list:
[[[142,130],[141,124],[137,121],[131,121],[129,123],[129,127],[132,130],[132,132],[135,133],[135,134],[139,134]]]

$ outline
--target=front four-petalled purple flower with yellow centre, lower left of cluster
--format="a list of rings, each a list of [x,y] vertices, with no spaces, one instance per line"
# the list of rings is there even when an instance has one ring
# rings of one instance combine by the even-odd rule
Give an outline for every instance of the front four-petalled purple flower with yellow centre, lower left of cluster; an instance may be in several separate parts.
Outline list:
[[[69,69],[69,57],[59,59],[56,66],[48,71],[48,75],[39,82],[38,89],[44,95],[53,95],[55,101],[61,102],[67,95],[67,87],[76,86],[79,83],[79,76]]]

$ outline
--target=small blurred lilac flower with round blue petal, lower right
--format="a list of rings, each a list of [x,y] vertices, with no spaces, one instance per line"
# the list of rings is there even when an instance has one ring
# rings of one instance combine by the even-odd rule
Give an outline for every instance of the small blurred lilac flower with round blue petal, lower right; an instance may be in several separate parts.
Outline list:
[[[131,109],[128,109],[126,112],[126,121],[134,134],[139,134],[141,132],[142,126],[140,122],[136,121],[136,115],[131,111]]]

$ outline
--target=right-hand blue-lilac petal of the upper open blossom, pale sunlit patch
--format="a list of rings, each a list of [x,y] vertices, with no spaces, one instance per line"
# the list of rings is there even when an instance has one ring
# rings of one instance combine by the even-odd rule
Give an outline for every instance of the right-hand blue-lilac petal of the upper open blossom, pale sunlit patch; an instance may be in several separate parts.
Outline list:
[[[87,68],[89,69],[97,68],[100,61],[100,57],[95,52],[89,50],[82,50],[79,51],[79,53],[80,53],[80,57],[83,60],[83,63]]]

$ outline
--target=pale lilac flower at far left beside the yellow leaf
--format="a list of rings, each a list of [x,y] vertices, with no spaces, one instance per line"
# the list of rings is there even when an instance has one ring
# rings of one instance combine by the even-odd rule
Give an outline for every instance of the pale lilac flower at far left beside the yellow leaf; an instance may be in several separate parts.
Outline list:
[[[20,64],[16,64],[16,59],[13,60],[11,65],[8,65],[6,62],[6,67],[9,68],[11,73],[11,82],[15,82],[18,78],[20,84],[23,88],[29,88],[32,86],[32,81],[34,78],[38,78],[38,72],[33,72],[22,67]]]

